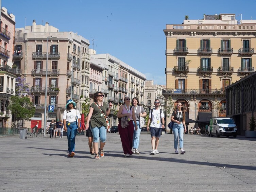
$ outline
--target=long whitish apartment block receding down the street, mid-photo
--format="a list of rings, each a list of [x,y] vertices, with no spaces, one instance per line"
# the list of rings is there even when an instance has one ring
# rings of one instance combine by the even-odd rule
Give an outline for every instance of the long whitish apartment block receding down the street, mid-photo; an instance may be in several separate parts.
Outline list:
[[[96,67],[94,69],[95,73],[99,74],[99,79],[102,78],[101,88],[99,83],[92,83],[90,92],[93,92],[93,87],[97,85],[96,90],[101,90],[105,95],[104,101],[113,103],[113,109],[109,115],[110,123],[117,125],[117,111],[126,96],[131,99],[138,97],[140,104],[144,104],[146,76],[110,54],[91,54],[90,56],[94,63],[98,61],[96,63],[98,67],[95,65],[98,71]],[[99,70],[102,72],[99,73]]]

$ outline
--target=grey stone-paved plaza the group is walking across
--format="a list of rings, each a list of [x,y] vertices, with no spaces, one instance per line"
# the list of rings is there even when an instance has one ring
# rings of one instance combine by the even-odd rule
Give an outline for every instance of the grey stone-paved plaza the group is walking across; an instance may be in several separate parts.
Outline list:
[[[0,137],[0,191],[256,191],[256,139],[184,135],[183,155],[173,135],[162,135],[159,155],[141,134],[140,155],[125,158],[120,136],[107,134],[105,157],[93,159],[88,138],[76,136],[73,158],[67,138]]]

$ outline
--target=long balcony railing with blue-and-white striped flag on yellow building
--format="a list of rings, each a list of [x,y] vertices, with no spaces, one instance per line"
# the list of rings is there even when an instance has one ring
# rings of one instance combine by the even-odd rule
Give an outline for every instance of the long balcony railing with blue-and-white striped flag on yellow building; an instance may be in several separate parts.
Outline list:
[[[163,94],[226,94],[225,89],[181,89],[181,92],[176,92],[176,89],[164,89]]]

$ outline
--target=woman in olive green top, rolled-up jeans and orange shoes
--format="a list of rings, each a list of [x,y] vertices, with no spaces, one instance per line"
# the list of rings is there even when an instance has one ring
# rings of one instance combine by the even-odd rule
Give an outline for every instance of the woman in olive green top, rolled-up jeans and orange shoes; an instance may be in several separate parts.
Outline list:
[[[104,117],[108,116],[110,113],[110,108],[112,107],[112,103],[109,103],[109,107],[107,104],[103,102],[104,95],[101,91],[96,92],[93,96],[94,102],[90,106],[89,114],[85,129],[89,128],[89,124],[91,125],[90,129],[93,136],[93,148],[95,152],[95,159],[100,159],[100,157],[104,157],[103,147],[105,145],[107,139],[107,123]],[[100,156],[98,154],[98,143],[100,138]]]

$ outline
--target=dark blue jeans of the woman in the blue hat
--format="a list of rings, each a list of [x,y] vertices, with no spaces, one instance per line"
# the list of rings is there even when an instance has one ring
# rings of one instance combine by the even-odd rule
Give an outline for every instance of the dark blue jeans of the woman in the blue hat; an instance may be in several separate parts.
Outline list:
[[[67,137],[68,137],[68,152],[75,152],[75,136],[77,132],[76,122],[70,122],[70,125],[66,123]]]

